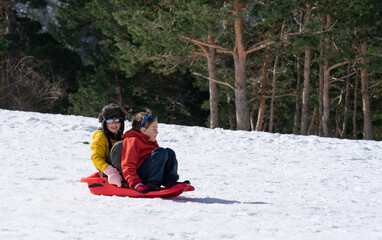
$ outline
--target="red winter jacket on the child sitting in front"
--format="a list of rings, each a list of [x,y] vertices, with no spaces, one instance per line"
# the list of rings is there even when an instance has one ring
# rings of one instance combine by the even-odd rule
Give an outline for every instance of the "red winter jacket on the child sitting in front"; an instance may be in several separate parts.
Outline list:
[[[133,129],[123,135],[121,168],[129,185],[141,182],[137,174],[139,166],[159,147],[157,141],[149,142],[149,138]]]

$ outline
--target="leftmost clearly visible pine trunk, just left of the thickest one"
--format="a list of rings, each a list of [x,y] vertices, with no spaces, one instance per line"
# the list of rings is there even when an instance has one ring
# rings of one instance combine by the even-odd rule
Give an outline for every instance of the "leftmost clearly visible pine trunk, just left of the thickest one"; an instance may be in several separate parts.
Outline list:
[[[214,44],[213,31],[208,31],[208,43]],[[208,73],[210,79],[216,80],[216,49],[208,49]],[[209,80],[209,90],[210,90],[210,128],[217,128],[219,126],[218,121],[218,87],[216,82]]]

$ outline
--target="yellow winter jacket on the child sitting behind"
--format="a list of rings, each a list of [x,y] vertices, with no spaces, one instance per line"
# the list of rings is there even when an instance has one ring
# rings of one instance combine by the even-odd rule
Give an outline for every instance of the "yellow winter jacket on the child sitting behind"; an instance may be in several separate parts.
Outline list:
[[[106,163],[106,157],[109,155],[109,143],[102,130],[96,130],[92,136],[93,142],[90,145],[92,149],[91,159],[94,166],[104,172],[109,164]],[[111,144],[114,145],[117,140],[110,139]]]

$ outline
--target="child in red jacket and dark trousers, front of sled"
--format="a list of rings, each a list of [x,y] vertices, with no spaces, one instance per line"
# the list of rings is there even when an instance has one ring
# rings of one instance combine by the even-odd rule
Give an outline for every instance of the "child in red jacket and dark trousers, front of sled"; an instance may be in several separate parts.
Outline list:
[[[159,147],[157,135],[157,118],[140,112],[132,119],[132,129],[123,135],[123,143],[115,146],[122,148],[116,151],[121,151],[120,158],[119,154],[111,156],[113,166],[120,170],[129,187],[141,193],[160,190],[161,185],[170,188],[178,183],[175,152]]]

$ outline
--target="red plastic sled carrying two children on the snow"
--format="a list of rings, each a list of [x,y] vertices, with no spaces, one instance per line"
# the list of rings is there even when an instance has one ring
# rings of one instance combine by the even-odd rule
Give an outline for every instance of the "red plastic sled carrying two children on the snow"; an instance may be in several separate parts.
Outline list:
[[[148,193],[139,193],[131,188],[117,187],[109,184],[107,178],[99,177],[99,173],[93,173],[89,177],[81,178],[81,182],[88,183],[90,193],[94,195],[104,196],[119,196],[119,197],[132,197],[132,198],[173,198],[177,197],[183,192],[194,191],[195,188],[189,184],[181,183],[176,184],[171,188],[163,188],[159,191],[150,191]]]

